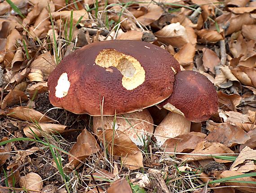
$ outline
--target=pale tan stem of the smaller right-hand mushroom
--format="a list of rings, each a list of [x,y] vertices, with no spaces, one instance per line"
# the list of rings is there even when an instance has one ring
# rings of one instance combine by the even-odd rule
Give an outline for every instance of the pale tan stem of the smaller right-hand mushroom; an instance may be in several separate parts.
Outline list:
[[[190,132],[191,122],[183,115],[169,112],[163,121],[155,128],[154,137],[157,145],[162,146],[168,138]]]

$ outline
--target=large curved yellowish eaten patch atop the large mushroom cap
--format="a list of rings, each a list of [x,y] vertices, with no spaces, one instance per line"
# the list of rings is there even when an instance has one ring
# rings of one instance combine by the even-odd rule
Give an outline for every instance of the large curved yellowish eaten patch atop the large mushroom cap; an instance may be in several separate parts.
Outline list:
[[[103,49],[97,55],[95,63],[109,71],[110,66],[116,67],[121,74],[122,85],[127,90],[133,90],[145,81],[145,70],[140,62],[132,56],[120,53],[114,49]]]

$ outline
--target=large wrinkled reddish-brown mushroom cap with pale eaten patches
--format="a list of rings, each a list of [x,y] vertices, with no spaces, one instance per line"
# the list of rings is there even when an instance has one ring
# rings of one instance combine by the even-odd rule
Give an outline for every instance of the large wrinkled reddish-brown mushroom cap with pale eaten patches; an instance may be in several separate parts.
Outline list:
[[[88,44],[65,57],[48,78],[49,100],[75,114],[100,116],[142,110],[172,94],[177,60],[135,40]]]

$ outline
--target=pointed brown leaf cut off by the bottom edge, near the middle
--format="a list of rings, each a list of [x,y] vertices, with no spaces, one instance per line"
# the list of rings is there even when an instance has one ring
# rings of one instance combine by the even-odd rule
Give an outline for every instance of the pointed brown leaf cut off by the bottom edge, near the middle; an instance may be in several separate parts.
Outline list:
[[[116,180],[111,186],[107,189],[108,193],[132,193],[131,186],[125,178]]]

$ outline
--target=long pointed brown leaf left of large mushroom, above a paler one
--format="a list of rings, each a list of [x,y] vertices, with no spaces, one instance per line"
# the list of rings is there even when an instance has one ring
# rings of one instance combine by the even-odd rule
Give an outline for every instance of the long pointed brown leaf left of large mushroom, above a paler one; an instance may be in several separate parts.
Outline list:
[[[36,110],[23,106],[14,107],[5,112],[4,115],[28,122],[49,123],[55,121],[54,119],[49,118]]]

